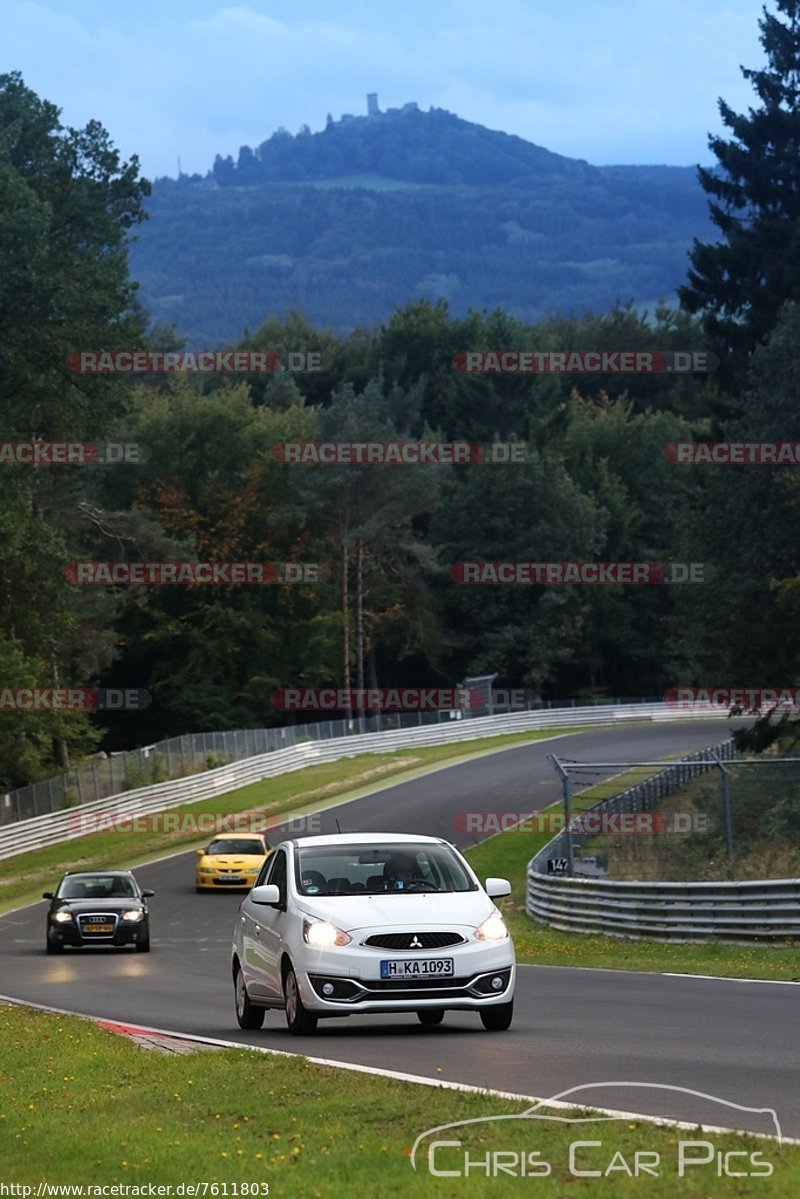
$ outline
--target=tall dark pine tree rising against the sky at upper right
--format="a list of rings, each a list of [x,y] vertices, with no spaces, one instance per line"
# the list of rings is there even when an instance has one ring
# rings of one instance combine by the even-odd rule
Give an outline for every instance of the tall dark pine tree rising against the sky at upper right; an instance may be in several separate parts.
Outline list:
[[[733,361],[769,335],[787,300],[800,301],[800,0],[776,4],[786,22],[764,10],[758,23],[766,66],[741,68],[760,107],[740,115],[720,100],[733,138],[709,137],[718,165],[698,168],[722,239],[694,241],[690,283],[679,288]]]

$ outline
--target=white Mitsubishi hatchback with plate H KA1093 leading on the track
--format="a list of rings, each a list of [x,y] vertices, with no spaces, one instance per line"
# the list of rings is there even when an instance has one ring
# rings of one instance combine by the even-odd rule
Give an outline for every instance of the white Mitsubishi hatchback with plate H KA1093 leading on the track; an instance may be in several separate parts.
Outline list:
[[[515,952],[493,898],[506,879],[477,880],[439,837],[338,833],[276,845],[242,899],[233,945],[236,1017],[259,1029],[283,1008],[294,1034],[320,1018],[477,1012],[511,1024]]]

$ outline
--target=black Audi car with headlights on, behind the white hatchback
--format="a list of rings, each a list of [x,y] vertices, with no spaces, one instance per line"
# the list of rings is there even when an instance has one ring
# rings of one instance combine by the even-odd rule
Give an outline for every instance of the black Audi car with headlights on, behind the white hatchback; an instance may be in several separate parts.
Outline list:
[[[148,899],[130,870],[67,873],[58,891],[44,891],[47,952],[62,953],[65,945],[136,945],[150,950]]]

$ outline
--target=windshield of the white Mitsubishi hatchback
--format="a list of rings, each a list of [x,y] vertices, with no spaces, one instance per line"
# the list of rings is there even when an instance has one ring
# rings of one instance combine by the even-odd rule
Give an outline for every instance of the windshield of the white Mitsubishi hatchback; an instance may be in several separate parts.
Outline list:
[[[296,885],[305,896],[475,891],[447,845],[301,846]]]

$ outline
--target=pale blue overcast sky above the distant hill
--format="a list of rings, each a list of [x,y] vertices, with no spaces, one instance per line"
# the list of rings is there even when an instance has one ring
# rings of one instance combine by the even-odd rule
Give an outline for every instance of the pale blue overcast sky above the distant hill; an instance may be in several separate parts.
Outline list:
[[[775,11],[772,2],[769,11]],[[145,175],[327,113],[415,100],[557,153],[712,161],[717,98],[753,103],[754,0],[2,0],[0,72],[95,118]]]

